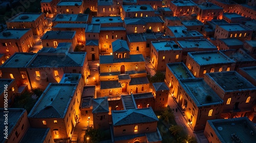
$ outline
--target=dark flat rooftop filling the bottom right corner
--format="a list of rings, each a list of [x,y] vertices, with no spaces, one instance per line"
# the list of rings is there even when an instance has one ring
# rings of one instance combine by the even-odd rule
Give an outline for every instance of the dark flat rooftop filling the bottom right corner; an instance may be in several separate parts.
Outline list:
[[[220,142],[234,142],[232,136],[237,136],[237,142],[238,140],[241,142],[256,140],[255,125],[247,117],[208,120],[207,122],[217,134]],[[254,135],[251,135],[251,131]]]

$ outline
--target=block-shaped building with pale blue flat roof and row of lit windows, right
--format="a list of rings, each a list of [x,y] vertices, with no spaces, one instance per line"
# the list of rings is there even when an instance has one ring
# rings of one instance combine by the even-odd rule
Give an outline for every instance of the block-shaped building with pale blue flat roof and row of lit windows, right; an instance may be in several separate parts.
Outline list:
[[[200,51],[187,53],[186,66],[195,77],[203,77],[205,73],[233,71],[236,62],[219,51]]]

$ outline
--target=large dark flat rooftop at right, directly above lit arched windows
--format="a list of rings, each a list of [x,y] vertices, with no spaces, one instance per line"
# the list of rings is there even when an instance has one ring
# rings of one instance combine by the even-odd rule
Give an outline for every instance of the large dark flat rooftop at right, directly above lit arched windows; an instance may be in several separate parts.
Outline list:
[[[255,90],[256,88],[242,75],[236,71],[206,73],[212,78],[224,91],[239,91],[239,90]]]

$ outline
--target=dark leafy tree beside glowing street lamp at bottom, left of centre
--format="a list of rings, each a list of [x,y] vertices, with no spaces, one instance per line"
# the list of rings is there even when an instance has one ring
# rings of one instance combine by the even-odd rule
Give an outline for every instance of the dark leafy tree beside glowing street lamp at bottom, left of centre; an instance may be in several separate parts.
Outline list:
[[[84,141],[87,141],[87,138],[89,138],[90,143],[98,143],[101,141],[103,137],[103,131],[99,129],[94,129],[93,127],[89,127],[88,130],[86,130],[86,134],[84,135]]]

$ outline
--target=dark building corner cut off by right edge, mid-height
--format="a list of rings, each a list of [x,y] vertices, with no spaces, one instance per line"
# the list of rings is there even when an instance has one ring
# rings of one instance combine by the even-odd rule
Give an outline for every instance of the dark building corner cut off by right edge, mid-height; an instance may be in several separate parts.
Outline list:
[[[250,81],[254,86],[256,86],[256,67],[240,68],[238,73]]]

